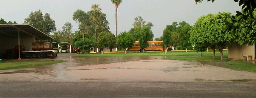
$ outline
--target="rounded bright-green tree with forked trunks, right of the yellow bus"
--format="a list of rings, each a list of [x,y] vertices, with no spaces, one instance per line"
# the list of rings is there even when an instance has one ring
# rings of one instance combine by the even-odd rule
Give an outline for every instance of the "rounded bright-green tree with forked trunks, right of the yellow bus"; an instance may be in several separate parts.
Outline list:
[[[230,12],[219,12],[201,16],[194,24],[190,34],[190,42],[194,45],[209,45],[212,47],[215,58],[215,46],[217,45],[223,60],[223,48],[234,40],[235,36],[226,30],[226,23],[232,23]]]

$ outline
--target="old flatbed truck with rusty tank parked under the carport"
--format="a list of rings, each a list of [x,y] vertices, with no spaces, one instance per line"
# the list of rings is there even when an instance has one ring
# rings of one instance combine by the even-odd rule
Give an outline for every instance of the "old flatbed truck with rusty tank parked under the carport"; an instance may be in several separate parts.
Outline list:
[[[19,56],[19,46],[15,46],[14,49],[7,49],[5,51],[7,59],[18,58]],[[52,49],[50,42],[33,42],[32,51],[25,51],[25,46],[20,45],[20,56],[22,58],[47,58],[47,57],[56,57],[57,50]]]

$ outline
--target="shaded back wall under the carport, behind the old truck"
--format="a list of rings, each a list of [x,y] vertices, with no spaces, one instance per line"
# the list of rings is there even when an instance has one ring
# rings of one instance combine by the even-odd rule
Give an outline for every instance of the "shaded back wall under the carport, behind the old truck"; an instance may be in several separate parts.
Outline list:
[[[32,47],[32,42],[35,42],[35,37],[30,38],[20,38],[20,45],[24,45],[26,51]],[[0,53],[5,53],[7,49],[13,49],[16,45],[18,45],[18,38],[1,38],[0,39]]]

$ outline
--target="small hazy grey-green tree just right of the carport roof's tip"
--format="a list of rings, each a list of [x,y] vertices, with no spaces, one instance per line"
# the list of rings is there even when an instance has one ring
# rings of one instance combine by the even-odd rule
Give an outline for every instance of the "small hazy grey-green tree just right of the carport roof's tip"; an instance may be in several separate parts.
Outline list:
[[[62,32],[64,35],[63,39],[67,39],[69,42],[71,42],[73,33],[72,33],[72,24],[69,22],[66,22],[64,26],[62,26]]]

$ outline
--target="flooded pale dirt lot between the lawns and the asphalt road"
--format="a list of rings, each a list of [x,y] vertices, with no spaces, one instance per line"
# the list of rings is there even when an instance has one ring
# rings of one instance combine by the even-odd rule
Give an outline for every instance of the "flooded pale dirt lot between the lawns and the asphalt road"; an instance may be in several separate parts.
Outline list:
[[[256,73],[253,72],[234,71],[198,62],[163,60],[163,58],[163,56],[81,57],[60,53],[55,59],[23,59],[65,62],[1,70],[0,82],[256,82]]]

